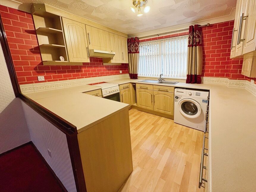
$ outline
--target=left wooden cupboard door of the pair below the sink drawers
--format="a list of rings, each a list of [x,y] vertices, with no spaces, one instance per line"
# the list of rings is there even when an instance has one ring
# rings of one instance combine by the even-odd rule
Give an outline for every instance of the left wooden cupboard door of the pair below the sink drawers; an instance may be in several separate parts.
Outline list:
[[[153,91],[136,89],[137,106],[153,110]]]

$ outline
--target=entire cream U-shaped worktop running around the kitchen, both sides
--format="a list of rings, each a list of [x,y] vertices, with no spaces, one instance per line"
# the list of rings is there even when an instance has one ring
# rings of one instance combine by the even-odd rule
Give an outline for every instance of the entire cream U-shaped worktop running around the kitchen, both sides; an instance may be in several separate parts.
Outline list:
[[[142,80],[127,78],[108,82],[125,84],[129,82],[142,83],[139,82]],[[224,85],[178,83],[163,86],[210,89],[208,190],[255,191],[255,96],[245,89],[227,88]],[[100,122],[107,116],[116,113],[116,111],[128,107],[124,103],[81,93],[98,89],[97,86],[85,85],[79,87],[26,95],[76,125],[78,132],[89,128],[96,122]],[[42,98],[35,99],[40,95]],[[51,98],[47,98],[48,96]]]

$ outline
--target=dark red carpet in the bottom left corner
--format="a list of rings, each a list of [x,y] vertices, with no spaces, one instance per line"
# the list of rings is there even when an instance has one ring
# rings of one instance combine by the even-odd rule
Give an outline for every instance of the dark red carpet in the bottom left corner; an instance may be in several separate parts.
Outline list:
[[[32,144],[0,155],[0,191],[63,191]]]

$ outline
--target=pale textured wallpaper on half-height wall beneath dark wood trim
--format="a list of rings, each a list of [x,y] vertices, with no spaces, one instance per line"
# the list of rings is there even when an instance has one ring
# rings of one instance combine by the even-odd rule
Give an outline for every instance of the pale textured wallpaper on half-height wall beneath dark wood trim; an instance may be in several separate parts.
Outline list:
[[[67,191],[76,192],[76,184],[65,133],[54,127],[40,114],[22,102],[31,141],[65,186]],[[51,151],[51,157],[48,155]]]

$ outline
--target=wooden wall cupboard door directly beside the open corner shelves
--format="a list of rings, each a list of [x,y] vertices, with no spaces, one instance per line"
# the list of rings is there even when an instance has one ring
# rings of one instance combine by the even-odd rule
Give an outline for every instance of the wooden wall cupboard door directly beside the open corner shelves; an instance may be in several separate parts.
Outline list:
[[[90,62],[83,23],[62,18],[69,62]]]

